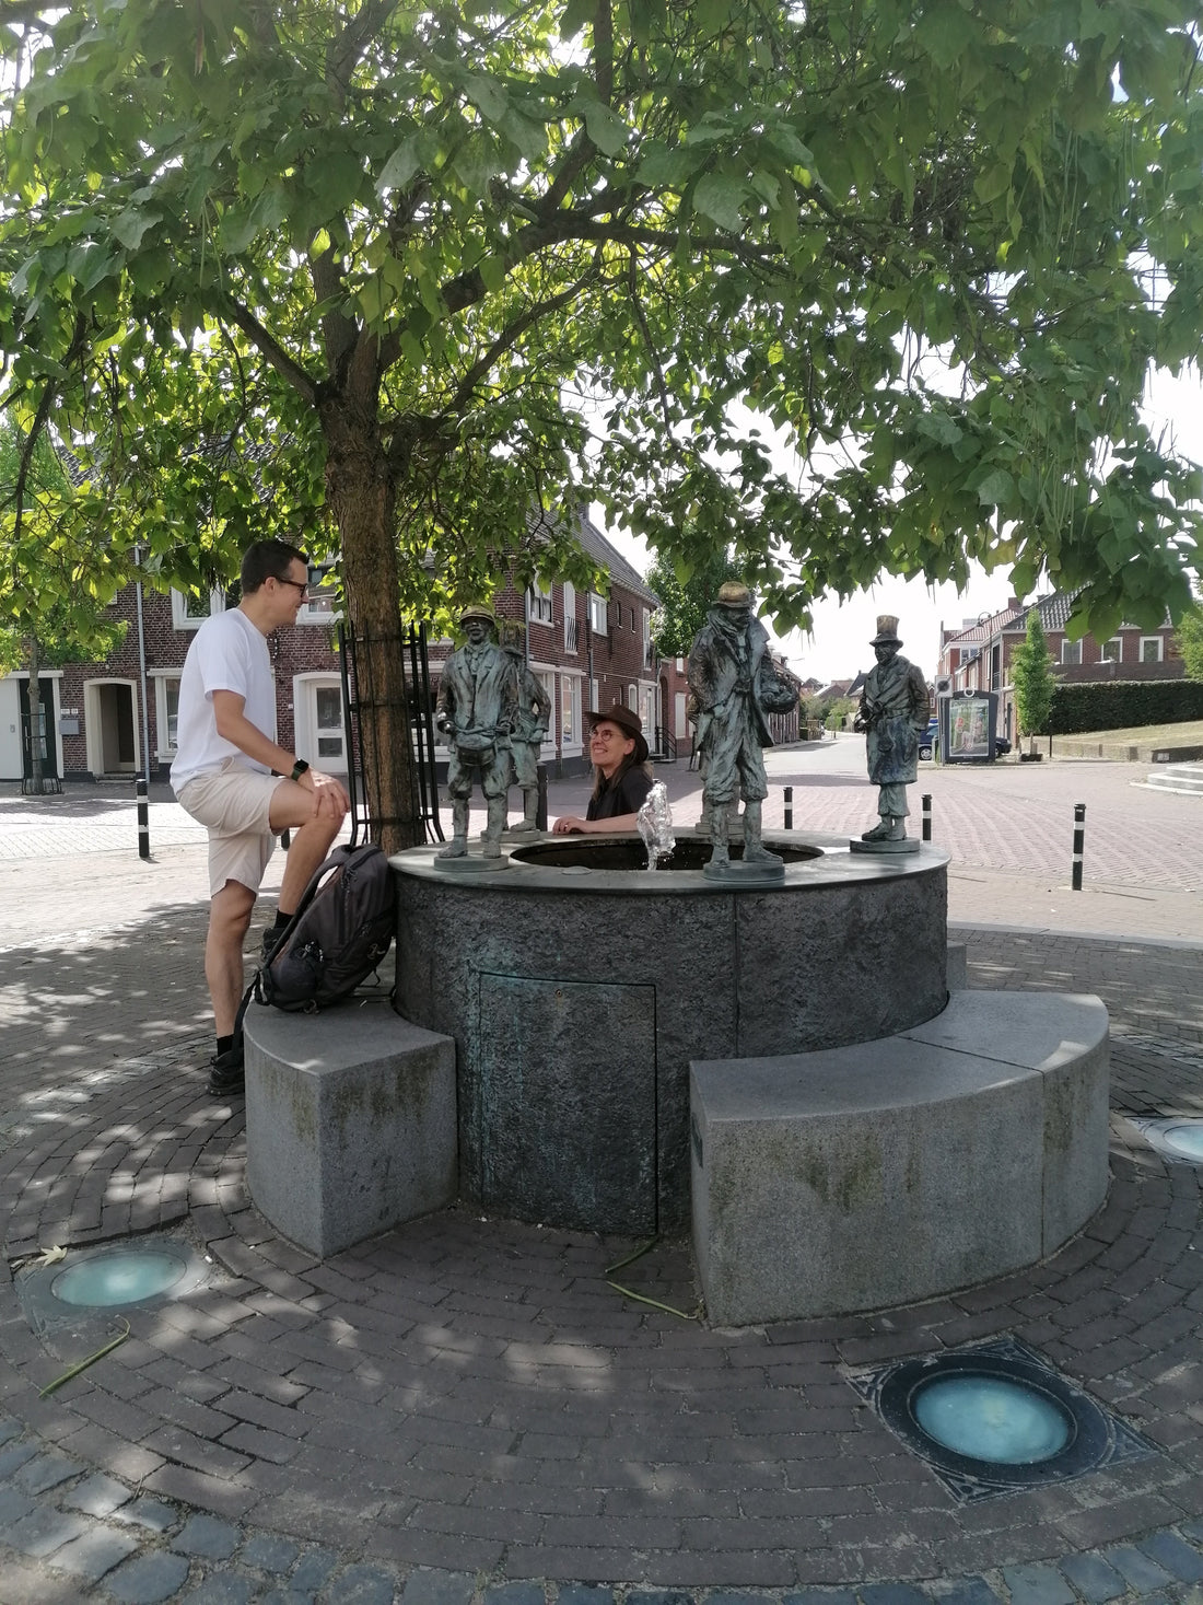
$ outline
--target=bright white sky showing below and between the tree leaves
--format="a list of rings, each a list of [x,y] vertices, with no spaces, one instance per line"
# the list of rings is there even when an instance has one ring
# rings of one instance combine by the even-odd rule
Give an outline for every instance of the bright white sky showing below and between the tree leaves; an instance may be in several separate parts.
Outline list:
[[[1203,377],[1198,372],[1182,379],[1155,374],[1148,387],[1145,419],[1155,433],[1168,430],[1168,438],[1184,456],[1203,462]],[[606,530],[606,538],[640,573],[646,573],[651,559],[640,538],[611,530]],[[1038,594],[1046,591],[1041,586]],[[1006,567],[996,568],[993,575],[975,568],[962,594],[958,594],[954,584],[927,586],[922,579],[885,576],[845,602],[839,597],[820,599],[813,608],[813,634],[794,631],[780,639],[780,647],[789,668],[804,681],[813,677],[826,684],[852,679],[860,669],[873,668],[869,640],[877,632],[877,615],[893,613],[898,618],[903,655],[934,679],[942,624],[959,629],[966,623],[977,623],[983,613],[998,613],[1007,607],[1012,594],[1011,570]]]

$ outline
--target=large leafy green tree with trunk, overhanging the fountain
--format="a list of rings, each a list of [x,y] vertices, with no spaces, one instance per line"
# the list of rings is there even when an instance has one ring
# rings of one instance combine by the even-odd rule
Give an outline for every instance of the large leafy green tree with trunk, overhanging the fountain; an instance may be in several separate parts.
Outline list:
[[[781,629],[974,559],[1099,639],[1152,626],[1200,530],[1139,416],[1203,337],[1195,29],[1195,0],[24,0],[0,404],[107,437],[164,579],[231,575],[244,533],[340,555],[390,847],[399,608],[510,560],[581,581],[542,517],[574,499],[674,567],[728,549]]]

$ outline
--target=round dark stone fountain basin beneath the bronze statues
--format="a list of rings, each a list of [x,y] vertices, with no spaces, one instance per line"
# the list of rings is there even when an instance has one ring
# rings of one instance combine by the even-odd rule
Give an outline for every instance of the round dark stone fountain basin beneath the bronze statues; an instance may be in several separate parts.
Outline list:
[[[765,844],[784,881],[744,889],[703,875],[696,838],[654,873],[634,835],[537,838],[472,876],[435,847],[390,860],[396,1010],[456,1040],[464,1199],[563,1228],[680,1231],[693,1059],[873,1042],[943,1010],[945,852]]]

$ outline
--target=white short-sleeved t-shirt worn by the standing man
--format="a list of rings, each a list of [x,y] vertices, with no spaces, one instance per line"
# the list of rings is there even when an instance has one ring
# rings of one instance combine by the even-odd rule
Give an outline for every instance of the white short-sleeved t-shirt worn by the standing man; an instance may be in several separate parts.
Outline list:
[[[236,692],[247,719],[269,740],[276,740],[276,679],[271,672],[268,639],[241,608],[207,618],[192,639],[180,676],[180,708],[175,725],[172,790],[180,794],[194,775],[215,774],[233,758],[244,769],[271,774],[244,751],[217,733],[213,692]]]

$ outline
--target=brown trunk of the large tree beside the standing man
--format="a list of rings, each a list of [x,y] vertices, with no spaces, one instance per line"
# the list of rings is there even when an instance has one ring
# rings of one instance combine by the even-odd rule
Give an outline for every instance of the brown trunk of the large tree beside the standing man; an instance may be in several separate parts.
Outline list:
[[[348,623],[354,637],[359,746],[372,839],[385,852],[422,841],[406,701],[398,602],[396,498],[374,408],[322,411],[326,490],[342,541]]]

